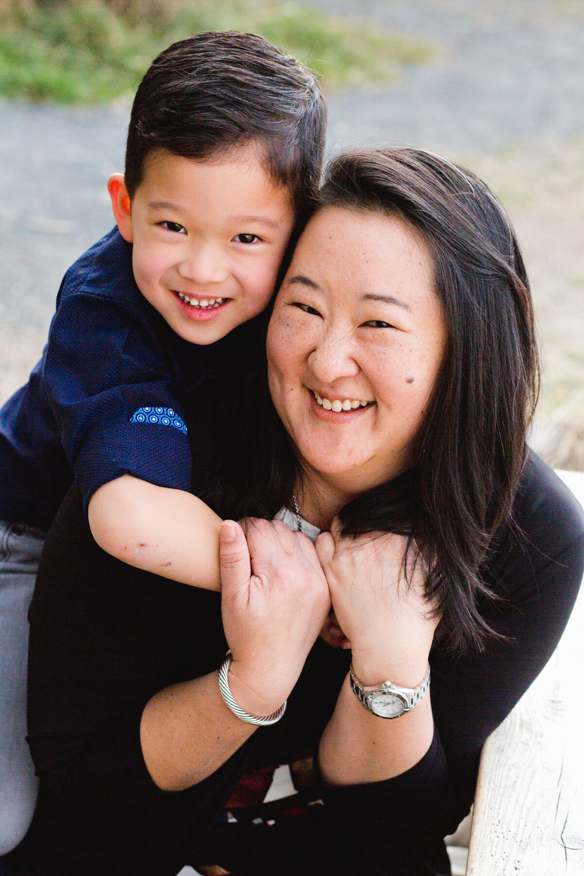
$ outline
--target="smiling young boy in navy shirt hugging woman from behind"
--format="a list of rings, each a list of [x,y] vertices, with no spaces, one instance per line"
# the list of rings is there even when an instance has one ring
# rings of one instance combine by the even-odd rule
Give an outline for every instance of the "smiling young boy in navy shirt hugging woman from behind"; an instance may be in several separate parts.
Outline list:
[[[176,43],[137,90],[125,176],[108,182],[117,228],[67,272],[43,357],[0,412],[0,854],[34,807],[26,611],[72,481],[110,554],[220,587],[220,519],[190,493],[183,405],[220,392],[254,343],[325,124],[313,75],[251,34]]]

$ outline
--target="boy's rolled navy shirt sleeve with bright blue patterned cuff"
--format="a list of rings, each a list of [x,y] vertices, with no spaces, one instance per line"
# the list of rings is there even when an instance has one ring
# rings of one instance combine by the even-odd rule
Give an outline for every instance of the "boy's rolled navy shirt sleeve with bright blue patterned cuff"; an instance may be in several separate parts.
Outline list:
[[[158,341],[136,314],[88,294],[61,300],[43,377],[86,508],[124,474],[190,490],[184,413]]]

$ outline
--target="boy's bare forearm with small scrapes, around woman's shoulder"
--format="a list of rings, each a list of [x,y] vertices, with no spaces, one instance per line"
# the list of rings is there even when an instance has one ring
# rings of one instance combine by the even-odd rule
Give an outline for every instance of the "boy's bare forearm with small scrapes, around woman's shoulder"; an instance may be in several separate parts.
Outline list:
[[[222,520],[192,493],[123,475],[95,491],[88,517],[97,544],[118,560],[172,581],[221,590]]]

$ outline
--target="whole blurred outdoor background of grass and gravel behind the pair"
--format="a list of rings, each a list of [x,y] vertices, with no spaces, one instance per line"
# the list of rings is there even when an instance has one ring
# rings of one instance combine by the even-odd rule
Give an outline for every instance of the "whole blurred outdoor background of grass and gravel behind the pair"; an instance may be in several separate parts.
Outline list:
[[[329,150],[413,145],[495,190],[542,343],[531,442],[584,470],[584,0],[0,0],[0,401],[39,358],[62,274],[113,224],[105,182],[144,70],[224,28],[321,74]]]

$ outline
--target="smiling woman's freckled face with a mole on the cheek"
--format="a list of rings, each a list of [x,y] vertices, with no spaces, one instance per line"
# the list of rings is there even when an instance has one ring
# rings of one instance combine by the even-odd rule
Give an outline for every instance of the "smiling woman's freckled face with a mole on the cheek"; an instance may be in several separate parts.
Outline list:
[[[320,210],[268,331],[272,399],[308,468],[355,493],[404,470],[445,339],[416,230],[397,216]]]

